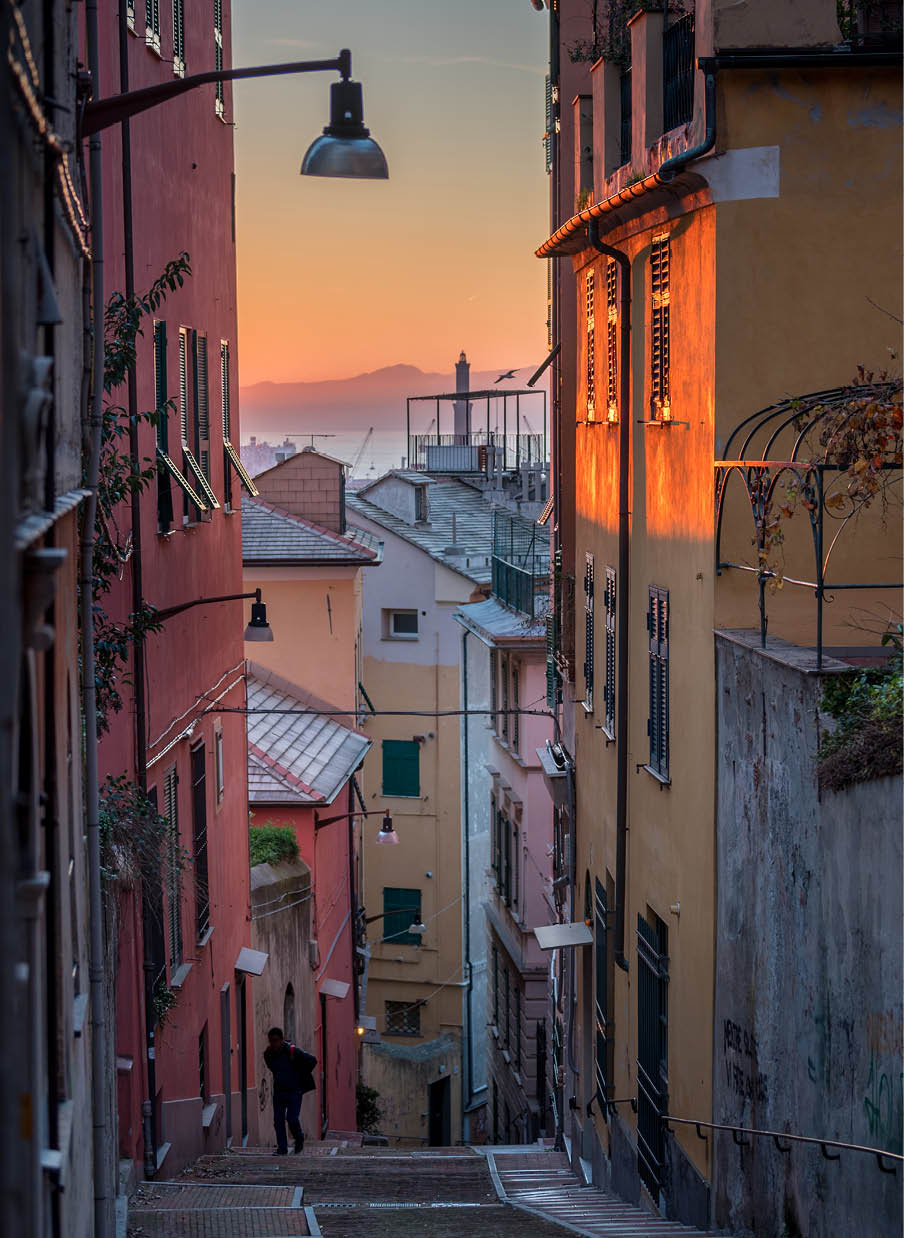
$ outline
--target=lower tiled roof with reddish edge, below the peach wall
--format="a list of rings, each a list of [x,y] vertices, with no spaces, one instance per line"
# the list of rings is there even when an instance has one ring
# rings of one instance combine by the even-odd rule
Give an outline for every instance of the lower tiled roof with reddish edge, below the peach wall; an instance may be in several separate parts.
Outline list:
[[[360,765],[372,740],[315,708],[301,688],[249,665],[251,803],[329,803]]]

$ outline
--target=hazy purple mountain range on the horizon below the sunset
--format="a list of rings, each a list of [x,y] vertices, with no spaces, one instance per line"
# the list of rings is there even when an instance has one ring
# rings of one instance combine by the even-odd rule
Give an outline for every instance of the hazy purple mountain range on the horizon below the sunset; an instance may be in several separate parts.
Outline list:
[[[497,384],[499,370],[472,370],[471,390],[524,389],[528,379],[536,369],[525,365],[518,370],[514,379]],[[545,385],[544,374],[537,387]],[[240,389],[241,439],[246,442],[250,435],[259,438],[272,438],[287,433],[315,433],[323,430],[378,430],[405,428],[405,400],[412,395],[432,395],[433,392],[454,391],[454,371],[451,374],[425,374],[416,365],[385,365],[369,374],[355,374],[348,379],[327,379],[321,383],[255,383]],[[425,412],[419,410],[419,413]],[[529,416],[540,412],[540,401],[530,400],[525,405]],[[451,432],[452,409],[443,409],[450,417]],[[432,416],[427,415],[426,421]],[[531,420],[539,422],[537,416]],[[421,417],[419,416],[419,421]],[[443,425],[445,431],[445,425]]]

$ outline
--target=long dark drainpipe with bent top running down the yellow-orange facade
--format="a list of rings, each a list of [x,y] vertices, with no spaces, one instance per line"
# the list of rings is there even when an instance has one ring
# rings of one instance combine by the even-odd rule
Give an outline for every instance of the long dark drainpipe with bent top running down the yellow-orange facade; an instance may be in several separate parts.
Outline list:
[[[708,126],[707,126],[708,132]],[[713,129],[715,141],[715,129]],[[712,145],[712,144],[711,144]],[[690,152],[689,152],[690,154]],[[618,418],[618,583],[615,623],[618,660],[615,664],[615,962],[628,971],[624,953],[624,891],[628,852],[628,572],[630,555],[630,259],[622,249],[599,240],[599,223],[587,224],[587,240],[593,249],[614,259],[622,267],[619,318],[622,348],[619,368]]]

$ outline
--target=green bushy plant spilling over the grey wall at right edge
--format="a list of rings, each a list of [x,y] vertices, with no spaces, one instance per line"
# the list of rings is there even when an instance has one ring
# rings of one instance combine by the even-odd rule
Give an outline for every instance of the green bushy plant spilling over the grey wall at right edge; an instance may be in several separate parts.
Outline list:
[[[892,646],[885,666],[833,676],[826,682],[821,708],[836,727],[820,745],[817,774],[820,786],[828,791],[904,769],[902,625],[885,633],[882,644]]]

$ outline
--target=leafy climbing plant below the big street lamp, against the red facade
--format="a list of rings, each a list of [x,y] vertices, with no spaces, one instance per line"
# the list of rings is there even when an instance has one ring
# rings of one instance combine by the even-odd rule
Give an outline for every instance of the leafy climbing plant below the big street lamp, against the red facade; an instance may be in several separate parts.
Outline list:
[[[119,390],[135,364],[139,335],[144,334],[142,322],[155,313],[170,292],[182,287],[191,275],[188,254],[181,254],[167,262],[162,275],[142,293],[126,297],[114,292],[104,311],[104,394],[111,396]],[[137,413],[136,423],[157,425],[175,407],[167,400],[160,409]],[[94,526],[94,587],[92,609],[94,615],[95,682],[98,692],[98,732],[109,729],[110,713],[123,708],[118,683],[126,681],[125,667],[131,647],[152,631],[160,630],[156,609],[145,603],[125,621],[113,620],[103,605],[103,598],[115,581],[121,579],[133,553],[131,520],[125,530],[119,520],[128,510],[124,504],[136,493],[145,490],[157,474],[156,459],[144,457],[135,461],[129,449],[129,412],[114,400],[105,400],[100,431],[100,472],[98,477],[98,508]]]

